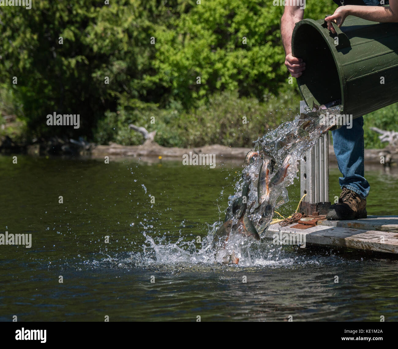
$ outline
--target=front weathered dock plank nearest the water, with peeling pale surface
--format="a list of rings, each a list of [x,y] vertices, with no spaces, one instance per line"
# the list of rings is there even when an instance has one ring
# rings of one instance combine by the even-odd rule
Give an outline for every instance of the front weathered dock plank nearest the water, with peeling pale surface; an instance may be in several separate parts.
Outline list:
[[[292,225],[294,224],[281,227],[279,224],[272,224],[266,232],[265,237],[272,238],[273,234],[281,231],[282,233],[295,235],[304,234],[306,244],[398,253],[398,234],[396,232],[330,227],[325,225],[317,225],[300,230],[291,228]]]

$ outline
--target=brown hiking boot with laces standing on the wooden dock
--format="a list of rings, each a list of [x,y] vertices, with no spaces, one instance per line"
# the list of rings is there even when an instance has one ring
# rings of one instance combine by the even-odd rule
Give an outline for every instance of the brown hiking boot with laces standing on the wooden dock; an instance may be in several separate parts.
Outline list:
[[[348,220],[366,218],[366,199],[346,187],[340,194],[339,202],[329,207],[328,220]]]

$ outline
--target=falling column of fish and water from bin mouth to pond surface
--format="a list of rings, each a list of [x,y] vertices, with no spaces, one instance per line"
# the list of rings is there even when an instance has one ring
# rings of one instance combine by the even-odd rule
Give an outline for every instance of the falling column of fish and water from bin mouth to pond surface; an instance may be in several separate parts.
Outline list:
[[[285,187],[298,171],[293,158],[302,157],[316,139],[335,126],[322,123],[322,115],[339,115],[342,108],[339,103],[314,104],[310,112],[301,113],[293,124],[288,125],[289,132],[285,133],[283,129],[287,123],[282,124],[274,133],[268,133],[258,141],[257,150],[246,154],[242,191],[234,195],[224,223],[213,234],[213,248],[223,264],[239,263],[236,251],[228,248],[232,234],[240,234],[253,241],[261,239],[261,234],[271,223],[275,207],[287,201]],[[272,138],[275,135],[277,138]],[[291,182],[286,183],[288,175]]]

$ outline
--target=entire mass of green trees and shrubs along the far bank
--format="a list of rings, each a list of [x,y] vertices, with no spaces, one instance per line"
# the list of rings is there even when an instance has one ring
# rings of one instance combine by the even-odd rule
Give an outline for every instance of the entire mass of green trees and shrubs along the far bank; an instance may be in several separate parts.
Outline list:
[[[335,8],[311,1],[305,17],[323,18]],[[134,123],[156,129],[166,146],[251,146],[292,117],[289,107],[297,111],[297,85],[287,83],[284,66],[282,13],[265,0],[2,6],[1,112],[18,115],[28,138],[58,133],[140,144],[142,136],[127,128]],[[46,115],[54,111],[80,114],[80,129],[48,127]],[[396,121],[396,106],[375,113],[380,128]],[[377,135],[365,133],[367,146],[377,144]]]

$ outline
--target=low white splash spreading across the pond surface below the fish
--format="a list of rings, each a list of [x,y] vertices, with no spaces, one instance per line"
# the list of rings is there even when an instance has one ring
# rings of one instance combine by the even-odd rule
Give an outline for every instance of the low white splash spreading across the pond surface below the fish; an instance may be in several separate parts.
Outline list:
[[[142,246],[142,252],[119,252],[112,254],[112,256],[104,254],[102,258],[86,259],[78,268],[82,270],[83,268],[105,267],[107,269],[131,270],[133,267],[138,267],[167,272],[179,272],[187,269],[213,271],[215,267],[219,269],[219,266],[222,265],[222,261],[217,258],[215,251],[210,247],[211,241],[207,240],[212,239],[212,231],[215,227],[216,225],[209,225],[209,234],[207,234],[200,248],[197,248],[194,240],[186,241],[184,238],[179,238],[176,242],[172,242],[164,236],[152,238],[152,236],[143,232],[146,240]],[[236,236],[236,238],[242,243],[237,252],[241,260],[238,265],[222,265],[225,270],[240,271],[242,268],[248,267],[292,269],[303,265],[324,264],[319,256],[308,258],[305,255],[306,252],[299,248],[292,253],[290,250],[282,249],[281,246],[266,243],[248,244],[247,239],[241,240],[240,236]],[[73,265],[76,266],[76,261]]]

